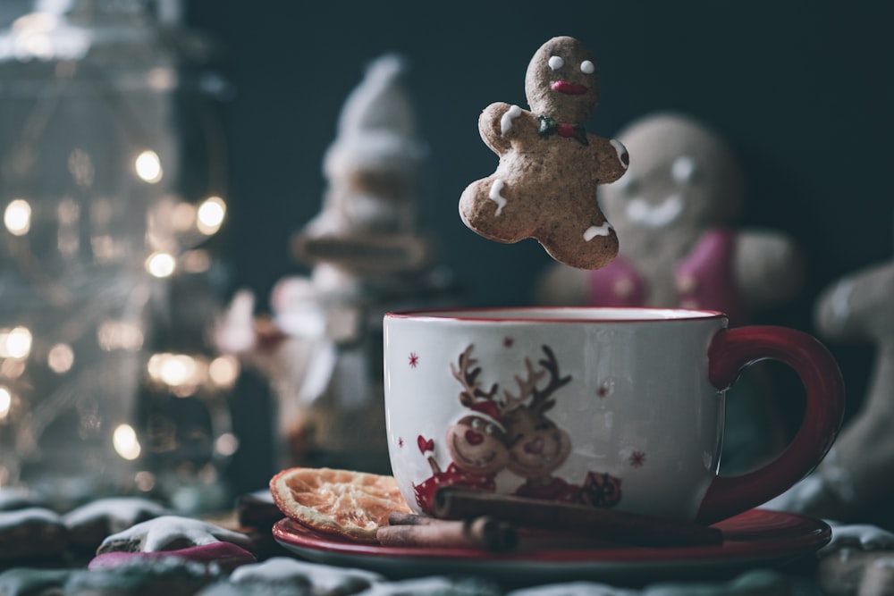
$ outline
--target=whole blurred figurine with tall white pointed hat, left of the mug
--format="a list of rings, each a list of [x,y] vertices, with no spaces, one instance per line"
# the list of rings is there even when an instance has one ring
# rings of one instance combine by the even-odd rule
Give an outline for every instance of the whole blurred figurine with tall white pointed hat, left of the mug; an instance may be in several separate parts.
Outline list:
[[[378,58],[342,108],[323,209],[292,242],[311,274],[275,285],[271,316],[254,315],[254,296],[241,291],[217,327],[217,346],[271,382],[282,466],[390,470],[382,316],[450,293],[433,240],[418,231],[427,148],[404,71],[399,56]]]

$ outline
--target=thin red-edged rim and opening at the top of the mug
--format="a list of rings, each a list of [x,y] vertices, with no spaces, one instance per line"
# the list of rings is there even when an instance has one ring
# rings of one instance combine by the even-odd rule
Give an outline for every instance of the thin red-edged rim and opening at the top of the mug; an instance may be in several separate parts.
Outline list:
[[[532,315],[534,313],[542,315]],[[384,316],[392,319],[492,323],[659,323],[727,318],[717,310],[652,306],[466,306],[400,310]]]

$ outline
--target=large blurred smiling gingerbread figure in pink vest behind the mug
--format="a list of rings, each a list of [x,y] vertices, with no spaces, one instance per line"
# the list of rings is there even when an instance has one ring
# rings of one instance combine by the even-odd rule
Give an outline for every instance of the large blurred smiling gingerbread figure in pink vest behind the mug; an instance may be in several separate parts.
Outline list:
[[[745,174],[718,134],[687,115],[654,113],[621,130],[618,139],[628,148],[630,167],[619,181],[600,187],[599,198],[618,233],[619,254],[594,271],[553,265],[539,283],[538,302],[706,308],[740,324],[753,310],[800,289],[802,267],[791,239],[735,227]],[[787,441],[766,382],[749,371],[730,390],[757,399],[728,400],[734,424],[724,440],[726,472],[756,466]],[[755,418],[760,434],[741,422]]]

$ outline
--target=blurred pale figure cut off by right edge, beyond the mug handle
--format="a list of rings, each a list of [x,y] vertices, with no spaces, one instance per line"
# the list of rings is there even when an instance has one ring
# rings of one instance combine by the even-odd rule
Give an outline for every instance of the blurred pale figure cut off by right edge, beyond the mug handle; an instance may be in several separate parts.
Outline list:
[[[822,464],[769,506],[894,528],[894,260],[834,283],[818,298],[815,319],[830,340],[874,342],[870,384]]]

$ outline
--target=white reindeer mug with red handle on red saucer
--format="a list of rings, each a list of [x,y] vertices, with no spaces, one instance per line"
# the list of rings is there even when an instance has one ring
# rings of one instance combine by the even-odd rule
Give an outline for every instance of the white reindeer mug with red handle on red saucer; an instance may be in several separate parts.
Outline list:
[[[763,358],[805,385],[789,447],[718,476],[725,390]],[[384,318],[392,472],[409,505],[479,491],[713,523],[786,491],[839,430],[838,365],[809,335],[727,329],[721,313],[655,308],[478,308]]]

